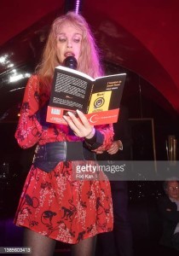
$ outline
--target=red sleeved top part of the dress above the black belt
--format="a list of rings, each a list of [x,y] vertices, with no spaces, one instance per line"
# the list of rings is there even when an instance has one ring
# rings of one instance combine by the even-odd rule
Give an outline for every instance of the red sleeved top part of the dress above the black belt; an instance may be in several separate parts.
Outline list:
[[[15,132],[15,138],[21,148],[30,148],[36,143],[84,140],[72,136],[67,125],[45,123],[44,107],[48,101],[49,96],[39,86],[38,76],[32,76],[26,84],[20,119]],[[113,142],[113,125],[98,125],[96,130],[99,133],[99,147],[107,150]]]

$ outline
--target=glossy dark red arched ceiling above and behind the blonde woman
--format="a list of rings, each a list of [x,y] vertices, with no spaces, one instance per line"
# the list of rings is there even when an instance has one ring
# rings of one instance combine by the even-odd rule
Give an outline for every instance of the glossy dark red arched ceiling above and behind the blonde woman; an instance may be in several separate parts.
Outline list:
[[[10,107],[16,104],[18,108],[49,26],[64,13],[67,2],[72,1],[1,1],[0,120],[8,115]],[[113,66],[114,72],[118,67],[124,68],[130,74],[125,94],[131,98],[140,91],[168,113],[177,114],[178,11],[177,0],[82,2],[82,14],[95,33],[107,67]],[[12,81],[18,75],[20,79]]]

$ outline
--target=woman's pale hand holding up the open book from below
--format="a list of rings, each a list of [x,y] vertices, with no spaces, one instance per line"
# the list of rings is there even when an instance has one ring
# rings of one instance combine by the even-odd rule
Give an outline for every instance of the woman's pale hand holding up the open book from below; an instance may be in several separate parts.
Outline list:
[[[85,137],[87,139],[92,138],[95,135],[95,128],[91,126],[84,113],[77,110],[78,118],[72,113],[68,112],[68,116],[64,115],[63,118],[70,126],[74,134],[78,137]]]

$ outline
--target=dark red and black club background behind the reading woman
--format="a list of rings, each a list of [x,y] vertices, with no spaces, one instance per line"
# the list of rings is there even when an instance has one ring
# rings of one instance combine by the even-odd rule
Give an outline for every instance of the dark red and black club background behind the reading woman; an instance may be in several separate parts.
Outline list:
[[[21,242],[21,233],[15,230],[12,219],[34,148],[22,150],[14,139],[14,131],[27,77],[41,57],[52,20],[73,8],[74,3],[1,2],[0,228],[4,235],[0,237],[1,246]],[[83,15],[101,48],[106,73],[127,73],[122,104],[129,109],[133,160],[153,157],[167,160],[165,142],[169,135],[176,136],[179,160],[179,2],[85,0],[81,3]],[[10,82],[15,75],[21,75],[21,79]],[[4,163],[8,172],[4,172]],[[140,255],[138,244],[143,245],[141,255],[158,252],[151,242],[159,242],[161,226],[156,202],[164,195],[162,181],[130,181],[129,195],[136,255]],[[158,255],[165,254],[158,252]]]

